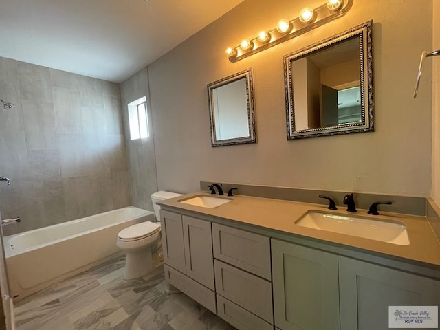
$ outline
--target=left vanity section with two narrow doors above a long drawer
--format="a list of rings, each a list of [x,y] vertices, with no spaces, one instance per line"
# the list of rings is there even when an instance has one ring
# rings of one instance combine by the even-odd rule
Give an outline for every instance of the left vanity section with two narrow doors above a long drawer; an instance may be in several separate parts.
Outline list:
[[[160,214],[168,283],[215,313],[211,223],[166,210]]]

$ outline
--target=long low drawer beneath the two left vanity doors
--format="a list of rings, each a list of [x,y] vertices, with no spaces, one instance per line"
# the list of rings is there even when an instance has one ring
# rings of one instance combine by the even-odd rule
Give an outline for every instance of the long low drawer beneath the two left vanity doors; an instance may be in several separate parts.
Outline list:
[[[164,265],[164,270],[165,278],[170,285],[177,287],[212,313],[217,313],[214,292],[168,265]]]

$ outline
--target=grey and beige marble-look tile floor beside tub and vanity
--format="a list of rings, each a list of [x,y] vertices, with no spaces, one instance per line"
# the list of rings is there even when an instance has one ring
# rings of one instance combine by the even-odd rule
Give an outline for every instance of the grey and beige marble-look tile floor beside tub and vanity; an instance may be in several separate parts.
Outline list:
[[[17,330],[234,330],[185,294],[166,294],[163,267],[126,281],[115,259],[15,304]]]

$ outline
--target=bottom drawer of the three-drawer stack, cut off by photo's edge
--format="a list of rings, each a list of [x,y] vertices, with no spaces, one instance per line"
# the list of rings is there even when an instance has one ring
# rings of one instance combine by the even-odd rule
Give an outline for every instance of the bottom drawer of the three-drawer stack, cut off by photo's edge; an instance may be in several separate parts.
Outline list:
[[[239,330],[273,330],[274,326],[254,316],[254,314],[246,311],[232,301],[217,296],[217,315],[223,318],[230,325]]]

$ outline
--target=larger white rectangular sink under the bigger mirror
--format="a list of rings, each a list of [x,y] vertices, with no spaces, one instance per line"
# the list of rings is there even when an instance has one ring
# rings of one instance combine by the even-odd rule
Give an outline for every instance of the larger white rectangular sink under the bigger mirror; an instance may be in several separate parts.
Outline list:
[[[306,212],[295,224],[397,245],[409,245],[410,243],[406,225],[387,219],[371,219],[358,215],[312,210]]]

